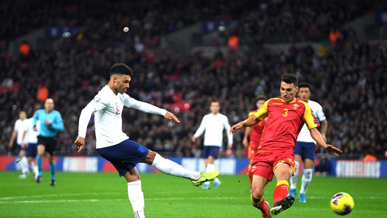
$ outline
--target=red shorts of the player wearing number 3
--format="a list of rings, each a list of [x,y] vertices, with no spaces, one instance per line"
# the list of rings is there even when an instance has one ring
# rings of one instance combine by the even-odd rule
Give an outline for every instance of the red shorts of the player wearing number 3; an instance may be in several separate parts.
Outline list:
[[[247,174],[261,176],[272,181],[274,170],[283,163],[290,165],[294,172],[296,163],[294,162],[293,150],[257,152]]]

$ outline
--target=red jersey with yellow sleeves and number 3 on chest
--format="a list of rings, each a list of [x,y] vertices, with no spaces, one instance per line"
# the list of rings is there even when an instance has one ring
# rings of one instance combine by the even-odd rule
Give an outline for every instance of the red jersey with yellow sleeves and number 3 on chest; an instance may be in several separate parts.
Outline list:
[[[271,98],[254,116],[260,120],[268,118],[257,152],[294,149],[304,123],[308,129],[319,126],[317,116],[309,105],[299,98],[289,103],[281,97]]]

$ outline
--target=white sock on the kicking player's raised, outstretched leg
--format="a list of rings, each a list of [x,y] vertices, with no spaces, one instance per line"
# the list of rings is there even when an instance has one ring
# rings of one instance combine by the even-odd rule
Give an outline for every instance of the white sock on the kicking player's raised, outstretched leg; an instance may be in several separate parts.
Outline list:
[[[156,168],[164,174],[182,177],[190,180],[200,179],[199,172],[184,169],[181,165],[178,165],[172,160],[165,159],[164,157],[160,156],[160,154],[156,154],[155,159],[152,163],[152,167]]]

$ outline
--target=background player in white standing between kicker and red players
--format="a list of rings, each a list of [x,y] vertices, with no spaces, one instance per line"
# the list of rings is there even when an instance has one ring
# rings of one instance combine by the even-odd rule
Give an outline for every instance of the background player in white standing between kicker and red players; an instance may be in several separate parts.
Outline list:
[[[212,100],[210,104],[211,114],[203,117],[202,123],[200,124],[196,133],[193,134],[191,140],[196,141],[204,132],[204,148],[203,158],[206,165],[206,172],[212,172],[215,170],[214,162],[218,158],[218,153],[223,145],[223,130],[227,131],[230,129],[230,123],[228,118],[219,113],[220,104],[217,100]],[[232,148],[232,135],[227,134],[228,144],[227,148]],[[214,179],[214,188],[218,188],[220,185],[218,178]],[[210,181],[205,182],[204,189],[210,188]]]

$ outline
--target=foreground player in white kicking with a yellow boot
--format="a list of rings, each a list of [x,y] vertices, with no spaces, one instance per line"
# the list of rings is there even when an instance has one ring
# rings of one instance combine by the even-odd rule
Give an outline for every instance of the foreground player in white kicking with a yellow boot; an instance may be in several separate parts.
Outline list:
[[[93,100],[82,110],[79,118],[78,137],[75,144],[80,152],[85,145],[87,125],[94,113],[96,148],[98,153],[109,160],[124,176],[127,182],[127,193],[136,218],[144,215],[144,194],[141,188],[140,175],[136,164],[145,162],[164,174],[191,180],[194,186],[218,177],[219,172],[201,173],[184,169],[177,163],[165,159],[158,153],[128,139],[122,132],[123,106],[139,111],[164,116],[171,122],[180,121],[170,112],[149,103],[138,101],[125,92],[132,79],[132,69],[124,64],[114,64],[110,68],[109,83],[104,86]]]

